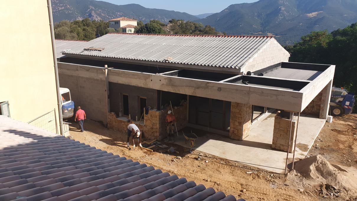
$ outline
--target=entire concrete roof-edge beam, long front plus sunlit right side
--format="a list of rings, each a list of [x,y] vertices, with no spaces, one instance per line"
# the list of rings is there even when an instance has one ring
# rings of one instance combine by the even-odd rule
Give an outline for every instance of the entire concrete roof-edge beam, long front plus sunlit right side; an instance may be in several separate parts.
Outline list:
[[[60,73],[100,79],[105,82],[103,68],[61,62],[58,65]],[[335,66],[330,66],[315,80],[308,82],[300,91],[174,77],[164,75],[165,73],[151,74],[119,69],[108,69],[108,79],[109,82],[119,84],[301,112],[332,80],[334,70]]]

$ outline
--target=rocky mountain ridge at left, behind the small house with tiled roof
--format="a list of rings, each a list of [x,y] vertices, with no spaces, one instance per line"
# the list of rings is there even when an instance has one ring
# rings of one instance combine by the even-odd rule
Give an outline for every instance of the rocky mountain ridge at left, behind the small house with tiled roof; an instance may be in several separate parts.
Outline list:
[[[151,19],[168,23],[171,19],[200,19],[188,13],[173,10],[145,8],[139,4],[115,5],[105,1],[95,0],[51,0],[53,21],[61,20],[110,20],[125,16],[141,20],[144,23]]]

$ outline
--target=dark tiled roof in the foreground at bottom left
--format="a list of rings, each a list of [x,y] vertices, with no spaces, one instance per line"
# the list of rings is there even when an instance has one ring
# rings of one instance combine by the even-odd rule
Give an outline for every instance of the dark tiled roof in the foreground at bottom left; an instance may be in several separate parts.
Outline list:
[[[236,201],[152,166],[0,116],[0,200]]]

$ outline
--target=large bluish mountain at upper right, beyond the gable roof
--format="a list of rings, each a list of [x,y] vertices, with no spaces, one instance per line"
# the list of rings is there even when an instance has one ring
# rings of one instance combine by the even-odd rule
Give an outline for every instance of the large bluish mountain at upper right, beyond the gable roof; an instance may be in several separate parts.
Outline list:
[[[260,0],[232,4],[196,20],[227,34],[273,34],[291,44],[311,31],[333,31],[357,22],[357,0]]]

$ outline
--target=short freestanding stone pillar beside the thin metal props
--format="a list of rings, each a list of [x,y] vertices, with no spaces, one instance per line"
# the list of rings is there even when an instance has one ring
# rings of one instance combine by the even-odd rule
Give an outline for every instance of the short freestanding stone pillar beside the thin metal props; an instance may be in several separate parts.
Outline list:
[[[288,150],[288,143],[289,143],[289,135],[290,135],[290,120],[284,119],[280,117],[280,111],[278,111],[275,115],[274,119],[274,132],[273,132],[273,142],[271,144],[271,148],[278,149],[281,151]],[[295,124],[296,121],[292,121],[292,130],[290,142],[290,149],[289,152],[291,153],[294,148],[294,141],[295,141]]]

